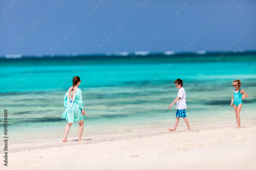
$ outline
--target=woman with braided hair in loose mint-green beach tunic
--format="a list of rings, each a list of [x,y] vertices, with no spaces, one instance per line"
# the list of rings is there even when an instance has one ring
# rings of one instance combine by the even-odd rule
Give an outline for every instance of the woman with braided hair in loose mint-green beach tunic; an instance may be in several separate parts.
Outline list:
[[[81,83],[80,77],[74,76],[73,86],[71,86],[65,97],[64,97],[64,106],[66,108],[65,112],[61,115],[62,118],[68,121],[65,130],[63,142],[67,142],[67,136],[69,129],[74,121],[78,121],[78,141],[82,140],[83,133],[83,120],[84,120],[84,108],[82,100],[82,92],[77,86]]]

